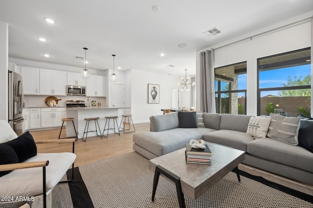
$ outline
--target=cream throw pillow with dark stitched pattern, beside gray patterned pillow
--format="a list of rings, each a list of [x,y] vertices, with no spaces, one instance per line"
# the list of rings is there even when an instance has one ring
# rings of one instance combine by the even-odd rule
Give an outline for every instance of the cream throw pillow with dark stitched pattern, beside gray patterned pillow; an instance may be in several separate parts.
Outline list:
[[[269,124],[270,118],[251,117],[246,129],[246,133],[252,136],[254,139],[266,138]]]

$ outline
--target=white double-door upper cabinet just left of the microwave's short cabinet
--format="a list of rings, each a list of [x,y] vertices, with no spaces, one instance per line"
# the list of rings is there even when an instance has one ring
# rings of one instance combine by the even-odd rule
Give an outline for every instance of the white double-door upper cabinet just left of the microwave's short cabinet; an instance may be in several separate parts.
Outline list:
[[[49,69],[40,70],[41,95],[66,95],[67,73]]]

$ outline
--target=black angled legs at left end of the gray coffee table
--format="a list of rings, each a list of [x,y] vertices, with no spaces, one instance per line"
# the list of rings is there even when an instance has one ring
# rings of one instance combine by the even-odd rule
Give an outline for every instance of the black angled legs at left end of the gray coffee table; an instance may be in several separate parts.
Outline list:
[[[156,166],[155,177],[153,181],[152,202],[155,201],[156,187],[157,187],[160,173],[162,173],[164,176],[166,176],[167,178],[175,182],[176,190],[177,190],[177,197],[179,201],[179,207],[185,208],[185,199],[184,199],[184,194],[181,191],[180,178],[177,175],[173,174],[172,172],[164,169],[162,166],[159,166],[159,165]]]

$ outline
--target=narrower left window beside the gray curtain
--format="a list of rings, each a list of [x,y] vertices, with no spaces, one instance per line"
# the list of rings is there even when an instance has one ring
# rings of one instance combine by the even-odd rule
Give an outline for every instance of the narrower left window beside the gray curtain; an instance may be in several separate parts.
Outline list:
[[[217,113],[246,114],[246,62],[215,68]]]

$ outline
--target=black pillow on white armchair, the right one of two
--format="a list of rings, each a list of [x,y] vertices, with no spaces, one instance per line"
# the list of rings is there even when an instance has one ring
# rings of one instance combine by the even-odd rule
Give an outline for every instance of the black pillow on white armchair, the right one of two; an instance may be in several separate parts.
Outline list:
[[[4,144],[7,144],[14,149],[19,158],[19,163],[37,155],[37,146],[29,131]]]

